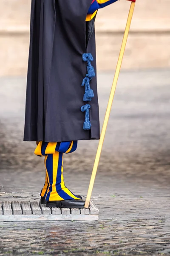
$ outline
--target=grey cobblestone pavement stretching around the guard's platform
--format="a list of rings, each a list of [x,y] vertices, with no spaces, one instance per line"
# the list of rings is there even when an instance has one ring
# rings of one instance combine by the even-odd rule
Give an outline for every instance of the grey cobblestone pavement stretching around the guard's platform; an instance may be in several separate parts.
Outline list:
[[[169,74],[121,73],[93,192],[99,221],[1,222],[0,255],[170,255]],[[98,76],[101,123],[112,78]],[[34,143],[22,142],[25,81],[0,79],[1,198],[38,197],[44,182]],[[73,192],[86,195],[96,146],[80,142],[65,156]]]

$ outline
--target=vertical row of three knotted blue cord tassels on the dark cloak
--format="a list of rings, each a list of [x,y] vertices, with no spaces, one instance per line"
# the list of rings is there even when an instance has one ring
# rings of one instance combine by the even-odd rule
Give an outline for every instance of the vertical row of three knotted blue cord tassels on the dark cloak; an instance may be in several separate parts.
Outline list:
[[[88,74],[86,74],[85,78],[82,80],[82,86],[85,86],[85,94],[83,96],[83,101],[90,102],[91,99],[94,97],[94,92],[90,87],[90,81],[92,77],[95,76],[94,67],[91,65],[91,61],[94,60],[91,53],[83,53],[82,55],[83,61],[87,62],[87,71]],[[89,104],[86,104],[81,107],[81,111],[85,112],[85,122],[83,125],[84,130],[90,130],[91,129],[91,122],[90,122],[90,116],[89,116],[89,109],[91,106]]]

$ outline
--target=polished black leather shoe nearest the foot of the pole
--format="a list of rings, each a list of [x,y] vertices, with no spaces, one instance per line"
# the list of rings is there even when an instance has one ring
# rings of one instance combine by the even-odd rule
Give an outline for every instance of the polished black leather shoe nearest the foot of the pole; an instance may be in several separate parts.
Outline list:
[[[59,207],[59,208],[84,208],[85,201],[83,200],[63,200],[63,201],[46,201],[46,207]]]

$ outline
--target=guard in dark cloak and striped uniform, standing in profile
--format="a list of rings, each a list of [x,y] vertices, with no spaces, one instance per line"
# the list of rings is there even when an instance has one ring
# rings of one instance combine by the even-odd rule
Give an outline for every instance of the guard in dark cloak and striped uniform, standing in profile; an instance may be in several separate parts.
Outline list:
[[[94,22],[117,0],[32,0],[24,141],[45,156],[41,203],[83,208],[64,183],[63,154],[99,140]]]

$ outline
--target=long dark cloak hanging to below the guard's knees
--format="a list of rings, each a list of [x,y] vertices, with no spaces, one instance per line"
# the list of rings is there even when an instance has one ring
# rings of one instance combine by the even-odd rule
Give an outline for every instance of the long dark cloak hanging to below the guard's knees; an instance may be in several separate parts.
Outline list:
[[[93,67],[96,73],[95,18],[85,21],[90,6],[91,0],[31,2],[25,141],[99,139],[96,76],[86,75]],[[81,86],[87,77],[89,102],[83,98],[89,84]],[[83,105],[90,109],[82,112]],[[91,129],[84,124],[88,111]]]

